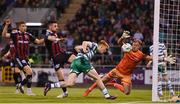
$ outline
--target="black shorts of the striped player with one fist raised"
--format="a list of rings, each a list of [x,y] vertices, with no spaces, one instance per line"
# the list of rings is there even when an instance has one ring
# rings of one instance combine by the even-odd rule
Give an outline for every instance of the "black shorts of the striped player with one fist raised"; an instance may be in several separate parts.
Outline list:
[[[15,63],[20,70],[23,70],[25,66],[31,66],[29,61],[26,59],[15,58]]]

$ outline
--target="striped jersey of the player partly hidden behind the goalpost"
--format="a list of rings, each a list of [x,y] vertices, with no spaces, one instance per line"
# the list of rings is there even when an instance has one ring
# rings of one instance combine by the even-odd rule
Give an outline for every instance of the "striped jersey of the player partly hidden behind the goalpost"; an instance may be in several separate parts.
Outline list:
[[[164,51],[166,51],[166,46],[164,45],[164,43],[159,43],[158,56],[164,58],[165,57]],[[150,46],[150,55],[152,54],[153,54],[153,45]]]

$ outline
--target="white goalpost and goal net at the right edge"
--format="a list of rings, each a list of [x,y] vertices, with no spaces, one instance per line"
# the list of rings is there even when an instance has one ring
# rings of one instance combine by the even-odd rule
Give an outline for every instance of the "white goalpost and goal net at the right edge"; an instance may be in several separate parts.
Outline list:
[[[155,0],[153,39],[152,101],[167,102],[180,95],[180,0]],[[159,64],[159,42],[166,46],[168,55],[176,57],[175,64]]]

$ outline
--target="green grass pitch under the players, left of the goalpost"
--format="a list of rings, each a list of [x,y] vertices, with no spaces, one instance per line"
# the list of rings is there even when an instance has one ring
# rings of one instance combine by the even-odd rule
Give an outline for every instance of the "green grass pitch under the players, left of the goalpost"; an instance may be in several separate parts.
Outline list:
[[[62,92],[58,88],[52,89],[47,96],[43,96],[42,87],[33,87],[36,96],[28,96],[26,94],[15,94],[15,87],[0,86],[0,103],[151,103],[151,90],[133,89],[130,95],[124,95],[117,89],[109,89],[111,95],[118,97],[116,100],[104,99],[98,89],[95,89],[88,97],[83,97],[82,94],[85,90],[86,88],[69,88],[69,96],[60,99],[56,98]]]

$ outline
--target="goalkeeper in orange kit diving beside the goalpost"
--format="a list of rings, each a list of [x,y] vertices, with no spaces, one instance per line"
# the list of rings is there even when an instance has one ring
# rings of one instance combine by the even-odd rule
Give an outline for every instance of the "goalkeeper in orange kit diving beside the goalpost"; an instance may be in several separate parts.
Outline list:
[[[124,41],[130,37],[129,31],[124,31],[122,36],[118,39],[118,44],[122,47],[126,47],[124,45],[127,45],[124,43]],[[138,65],[139,62],[142,60],[150,61],[152,60],[152,57],[149,55],[144,54],[142,51],[140,51],[142,45],[141,40],[134,40],[131,47],[126,47],[128,49],[123,49],[124,56],[119,62],[119,64],[112,69],[109,73],[107,73],[105,76],[103,76],[102,81],[106,83],[107,86],[113,86],[123,92],[126,95],[130,94],[131,91],[131,75],[133,73],[133,70],[135,69],[136,65]],[[164,60],[164,59],[159,59]],[[167,62],[174,62],[174,57],[168,56],[165,58]],[[111,82],[110,80],[113,78],[120,79],[121,83],[115,83]],[[88,94],[96,88],[97,84],[94,83],[91,87],[89,87],[83,96],[88,96]]]

